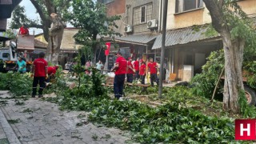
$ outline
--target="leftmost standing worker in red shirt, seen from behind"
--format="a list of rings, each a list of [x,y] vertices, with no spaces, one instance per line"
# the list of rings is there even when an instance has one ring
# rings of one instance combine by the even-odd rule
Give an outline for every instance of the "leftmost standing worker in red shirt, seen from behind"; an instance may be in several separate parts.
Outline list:
[[[44,57],[45,54],[40,53],[39,58],[35,59],[33,62],[31,74],[31,77],[34,77],[32,98],[35,98],[35,95],[37,94],[38,83],[40,86],[38,90],[38,98],[42,98],[42,90],[45,88],[45,81],[48,78],[48,63],[46,62]]]

